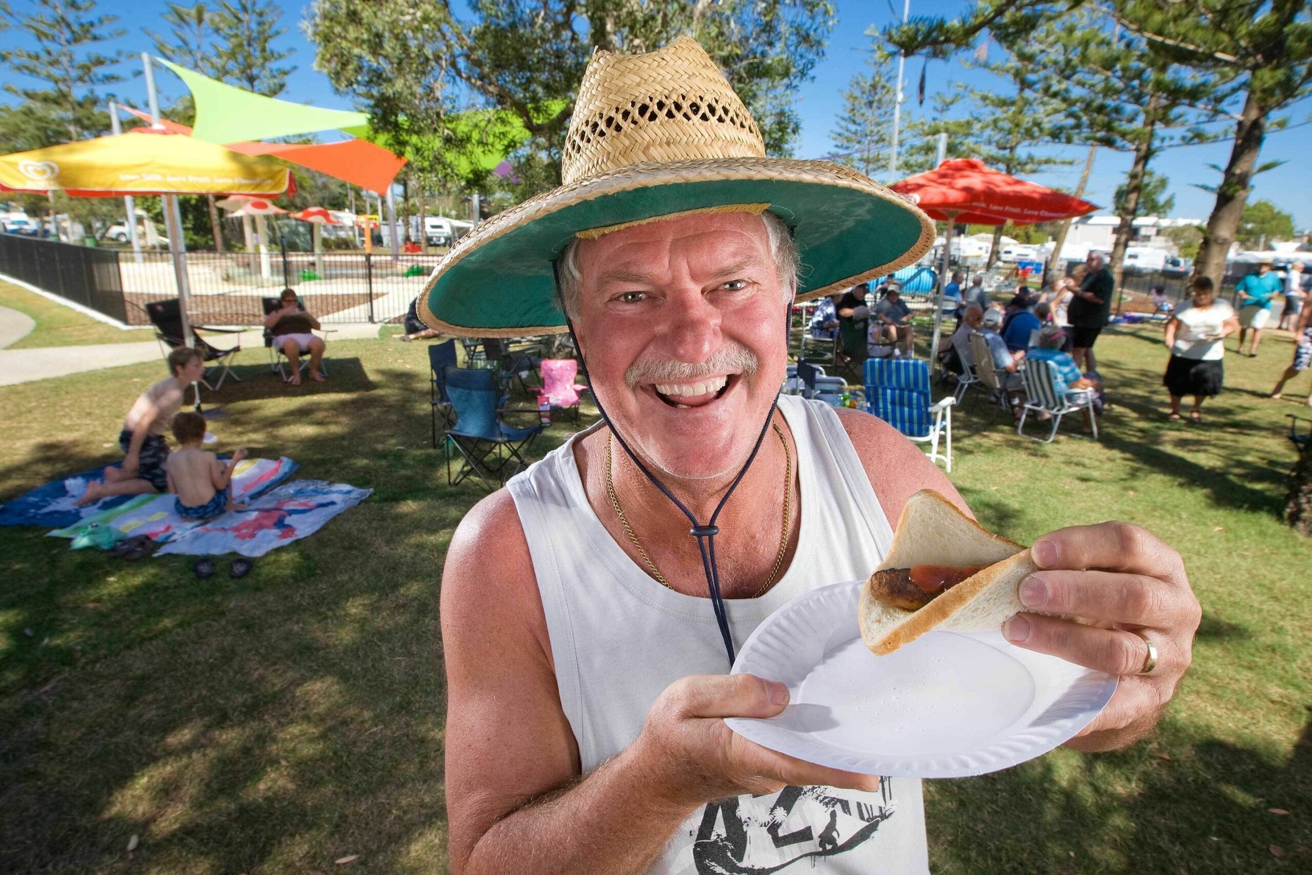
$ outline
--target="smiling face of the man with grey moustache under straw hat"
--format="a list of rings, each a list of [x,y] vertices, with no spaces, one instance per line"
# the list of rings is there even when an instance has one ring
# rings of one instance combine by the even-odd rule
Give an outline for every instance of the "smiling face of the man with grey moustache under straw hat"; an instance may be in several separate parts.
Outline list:
[[[576,331],[630,446],[706,479],[752,451],[787,365],[787,307],[765,222],[744,213],[652,222],[580,241]]]

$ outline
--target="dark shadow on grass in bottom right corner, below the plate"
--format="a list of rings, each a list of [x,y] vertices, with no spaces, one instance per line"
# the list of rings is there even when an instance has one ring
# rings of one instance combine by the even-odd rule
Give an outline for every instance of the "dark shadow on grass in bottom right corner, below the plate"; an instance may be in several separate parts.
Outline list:
[[[1278,762],[1168,719],[1124,752],[929,782],[930,861],[951,874],[1308,871],[1307,825],[1267,808],[1304,809],[1309,775],[1312,724]]]

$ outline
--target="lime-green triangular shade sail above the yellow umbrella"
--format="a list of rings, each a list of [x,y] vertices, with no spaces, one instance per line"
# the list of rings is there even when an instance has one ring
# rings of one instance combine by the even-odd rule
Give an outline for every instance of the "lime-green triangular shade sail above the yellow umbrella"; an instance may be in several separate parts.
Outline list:
[[[210,143],[262,140],[369,125],[367,113],[321,109],[253,94],[185,67],[156,59],[186,83],[195,101],[192,136]]]

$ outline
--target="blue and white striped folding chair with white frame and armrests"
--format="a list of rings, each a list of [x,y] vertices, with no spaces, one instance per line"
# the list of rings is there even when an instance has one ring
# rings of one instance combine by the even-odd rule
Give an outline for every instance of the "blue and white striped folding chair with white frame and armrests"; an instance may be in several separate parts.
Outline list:
[[[922,358],[867,358],[866,409],[892,425],[912,441],[929,443],[925,455],[942,459],[953,472],[953,405],[947,397],[930,397],[929,362]],[[939,438],[945,453],[938,451]]]

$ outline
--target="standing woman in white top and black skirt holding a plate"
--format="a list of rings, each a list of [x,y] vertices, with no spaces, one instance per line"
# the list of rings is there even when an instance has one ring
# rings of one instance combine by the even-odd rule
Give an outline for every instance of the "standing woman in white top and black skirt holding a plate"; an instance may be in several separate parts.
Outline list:
[[[1170,392],[1168,418],[1179,421],[1179,399],[1193,395],[1194,409],[1189,418],[1202,422],[1203,399],[1221,391],[1225,379],[1221,365],[1225,354],[1223,341],[1239,331],[1239,317],[1227,302],[1216,300],[1210,278],[1195,277],[1190,289],[1194,293],[1193,300],[1177,310],[1166,323],[1170,361],[1162,383]]]

